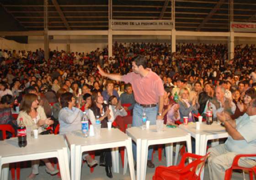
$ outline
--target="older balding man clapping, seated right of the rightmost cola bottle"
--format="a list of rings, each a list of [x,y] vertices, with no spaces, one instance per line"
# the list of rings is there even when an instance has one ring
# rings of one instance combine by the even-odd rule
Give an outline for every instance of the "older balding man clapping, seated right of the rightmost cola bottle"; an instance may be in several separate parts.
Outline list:
[[[225,91],[226,90],[222,86],[217,86],[215,88],[215,97],[211,100],[214,119],[216,119],[217,112],[227,111],[230,115],[235,113],[235,104],[225,97]]]

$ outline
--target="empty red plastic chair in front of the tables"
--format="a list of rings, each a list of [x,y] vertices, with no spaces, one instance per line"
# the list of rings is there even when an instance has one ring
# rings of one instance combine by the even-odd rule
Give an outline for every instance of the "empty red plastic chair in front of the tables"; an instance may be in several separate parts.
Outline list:
[[[182,156],[181,162],[177,166],[158,166],[155,169],[153,180],[200,180],[201,171],[209,153],[205,156],[197,154],[186,153]],[[195,159],[185,166],[187,158]],[[196,174],[197,169],[200,167],[199,174]],[[197,168],[198,167],[198,168]]]

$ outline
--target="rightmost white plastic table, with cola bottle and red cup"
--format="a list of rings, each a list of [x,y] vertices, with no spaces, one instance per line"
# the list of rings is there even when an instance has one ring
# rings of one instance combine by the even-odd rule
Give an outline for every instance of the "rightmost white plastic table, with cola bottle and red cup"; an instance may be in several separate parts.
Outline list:
[[[196,154],[205,155],[208,140],[217,140],[212,143],[212,146],[219,144],[220,138],[227,138],[228,132],[225,127],[222,127],[219,123],[213,122],[211,125],[207,125],[203,122],[200,125],[200,130],[196,130],[196,123],[189,123],[188,125],[180,125],[181,129],[187,131],[196,140]],[[179,148],[179,145],[176,146]],[[201,179],[203,180],[203,171],[201,173]]]

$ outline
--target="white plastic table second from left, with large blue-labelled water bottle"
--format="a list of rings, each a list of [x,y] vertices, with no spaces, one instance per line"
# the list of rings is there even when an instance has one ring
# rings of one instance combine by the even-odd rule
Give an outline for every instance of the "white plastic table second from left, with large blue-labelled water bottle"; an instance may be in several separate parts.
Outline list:
[[[82,153],[85,151],[112,148],[113,172],[119,173],[119,154],[117,147],[126,147],[131,180],[135,180],[133,169],[132,139],[119,129],[101,128],[99,137],[84,138],[80,131],[65,134],[71,155],[71,179],[80,180]]]

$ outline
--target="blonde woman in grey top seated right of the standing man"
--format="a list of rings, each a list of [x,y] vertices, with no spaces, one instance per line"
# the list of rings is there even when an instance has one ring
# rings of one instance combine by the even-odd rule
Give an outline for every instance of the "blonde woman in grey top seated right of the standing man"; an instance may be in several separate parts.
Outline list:
[[[189,90],[187,88],[182,88],[179,92],[180,100],[178,104],[180,105],[179,111],[181,116],[181,122],[183,122],[183,117],[188,117],[188,122],[193,122],[192,114],[197,114],[197,104],[196,98],[189,102]]]

